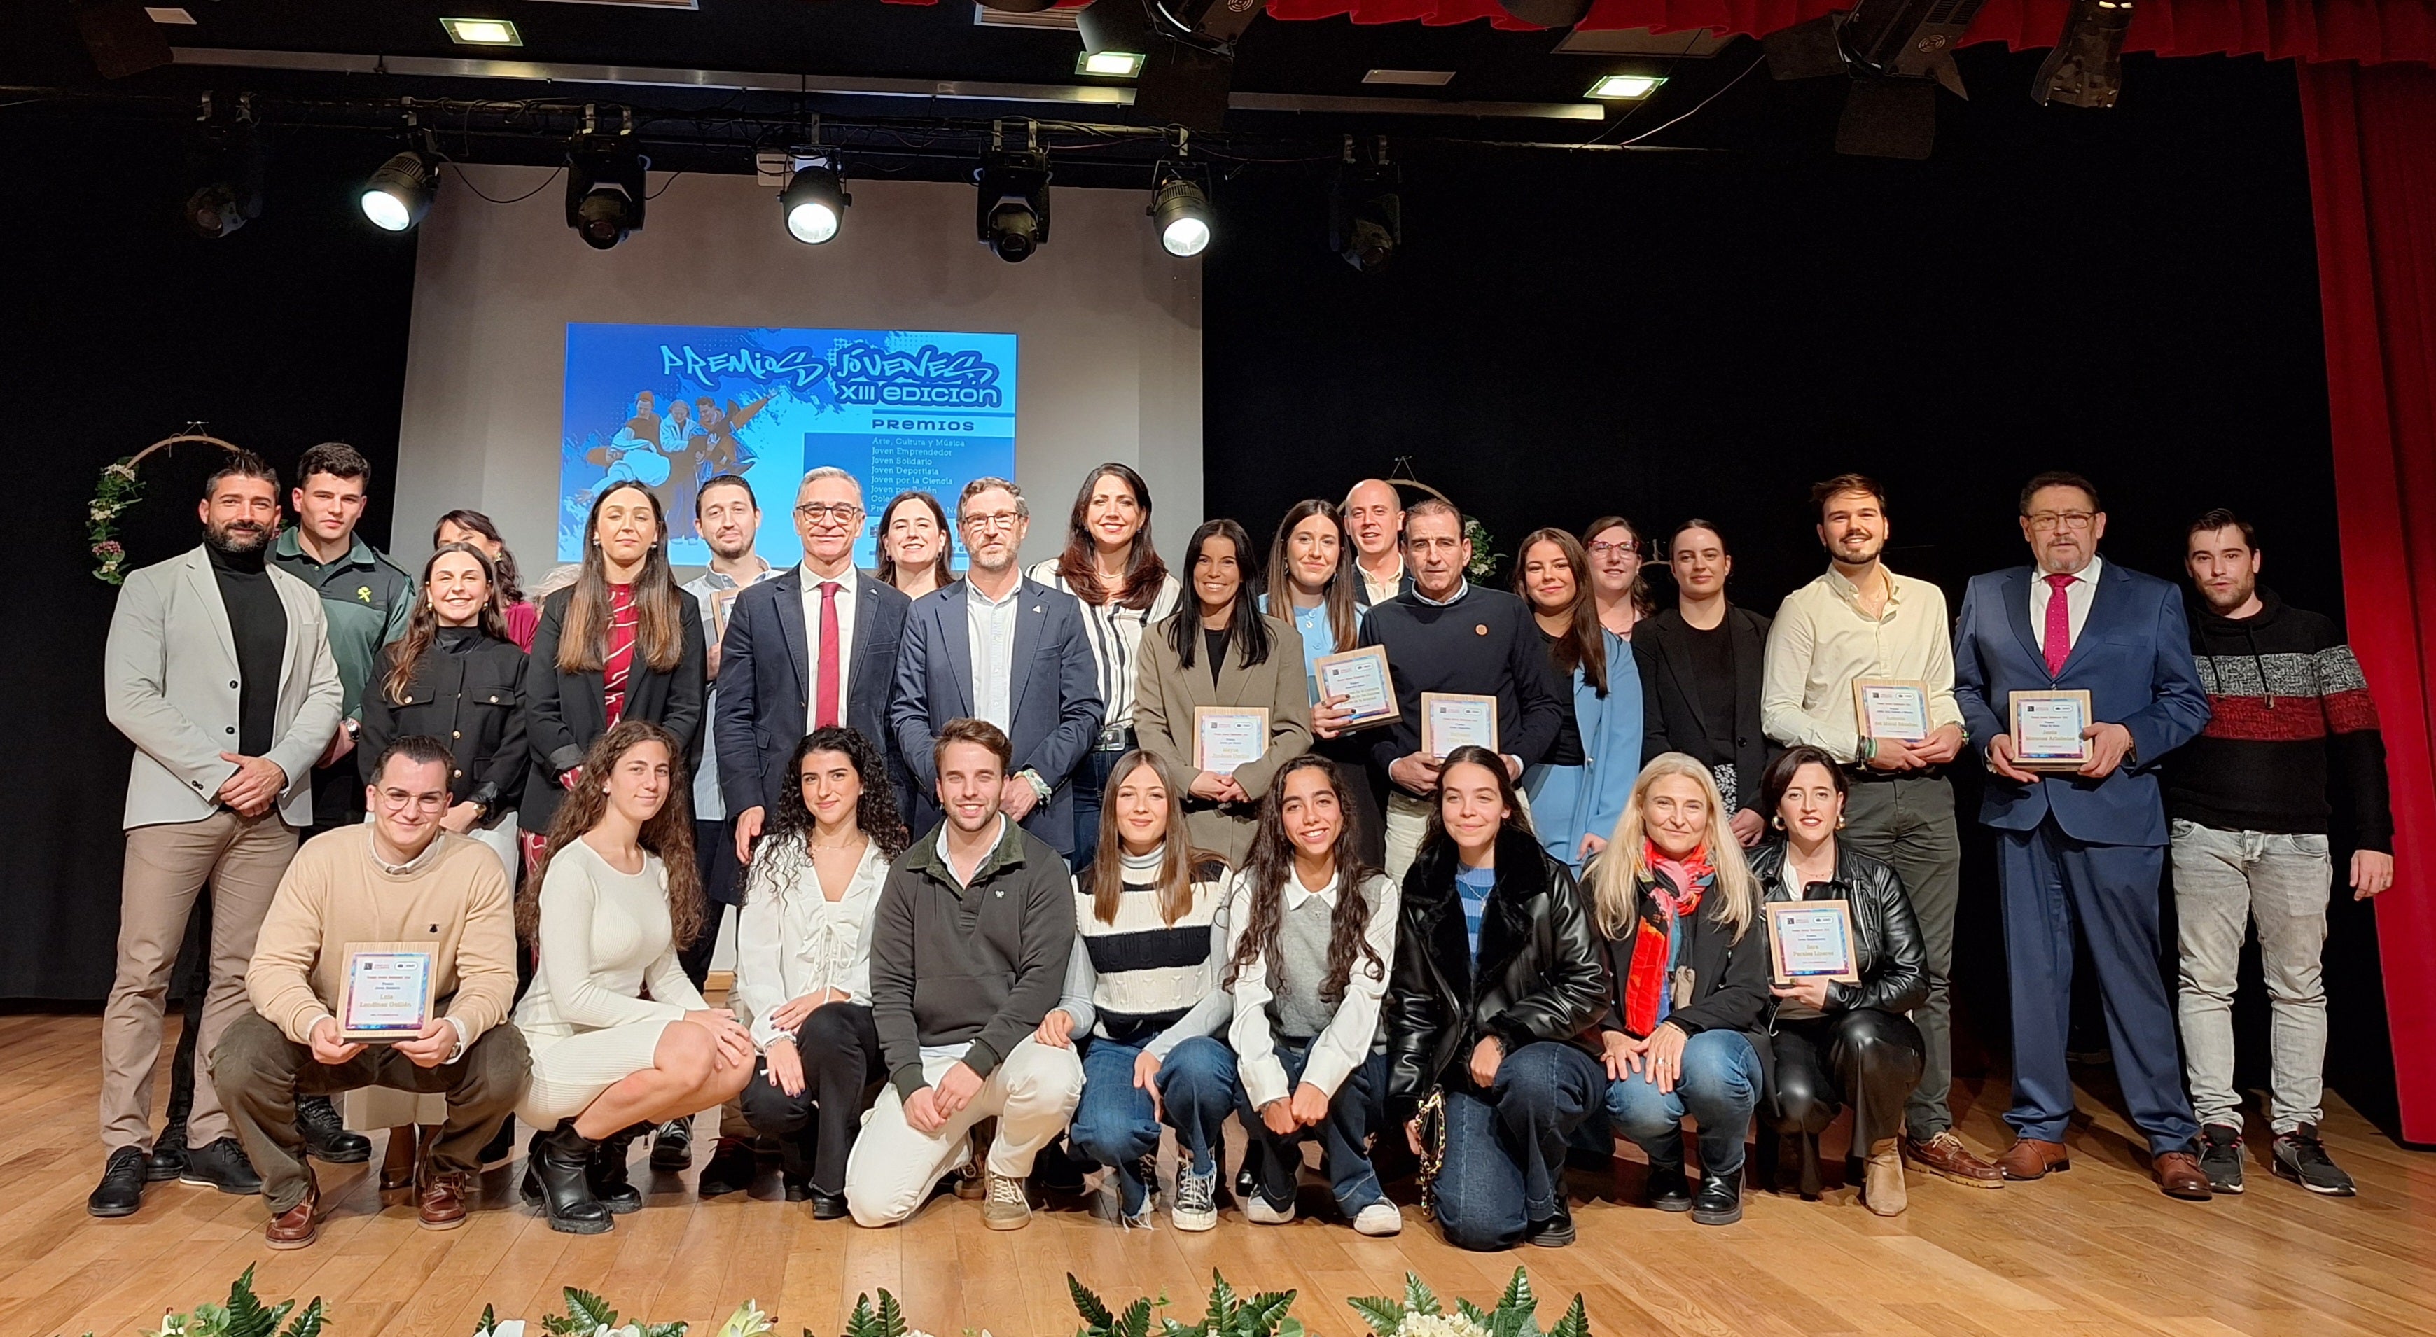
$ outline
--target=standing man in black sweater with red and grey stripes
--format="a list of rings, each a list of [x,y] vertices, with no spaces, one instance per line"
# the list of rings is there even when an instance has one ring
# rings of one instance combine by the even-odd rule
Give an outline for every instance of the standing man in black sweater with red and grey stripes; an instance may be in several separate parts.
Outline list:
[[[2217,509],[2192,521],[2185,560],[2200,592],[2190,650],[2214,711],[2166,779],[2200,1169],[2217,1193],[2241,1191],[2234,981],[2256,921],[2273,1016],[2275,1174],[2312,1193],[2351,1196],[2351,1176],[2317,1137],[2326,1059],[2319,950],[2334,882],[2329,782],[2348,799],[2358,843],[2353,899],[2395,882],[2378,709],[2334,623],[2258,587],[2258,541],[2244,519]]]

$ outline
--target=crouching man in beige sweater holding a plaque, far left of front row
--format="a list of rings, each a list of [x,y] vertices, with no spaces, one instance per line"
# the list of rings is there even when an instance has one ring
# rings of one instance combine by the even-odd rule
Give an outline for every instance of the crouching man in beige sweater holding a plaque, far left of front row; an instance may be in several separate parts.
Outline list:
[[[273,1249],[302,1249],[322,1232],[297,1096],[358,1086],[448,1096],[448,1123],[414,1186],[421,1225],[448,1230],[465,1220],[477,1191],[482,1142],[524,1093],[524,1035],[507,1023],[516,996],[514,894],[499,855],[441,830],[451,765],[438,738],[390,743],[365,794],[373,821],[297,850],[246,967],[253,1011],[229,1023],[212,1050],[212,1079],[263,1176],[263,1240]],[[341,1023],[348,957],[375,945],[392,952],[390,962],[429,952],[431,1006],[412,1033],[356,1042]],[[390,974],[387,991],[370,998],[387,1008],[358,1006],[351,1018],[358,1035],[365,1023],[397,1025],[414,1013],[414,979]]]

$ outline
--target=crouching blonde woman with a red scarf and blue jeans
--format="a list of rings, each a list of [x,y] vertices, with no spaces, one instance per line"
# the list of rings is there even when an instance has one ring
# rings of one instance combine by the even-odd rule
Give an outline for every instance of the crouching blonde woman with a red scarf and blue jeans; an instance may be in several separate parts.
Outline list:
[[[1649,1205],[1732,1225],[1773,998],[1751,869],[1708,767],[1683,753],[1642,767],[1586,882],[1608,960],[1608,1118],[1649,1154]],[[1686,1113],[1700,1125],[1698,1196],[1683,1171]]]

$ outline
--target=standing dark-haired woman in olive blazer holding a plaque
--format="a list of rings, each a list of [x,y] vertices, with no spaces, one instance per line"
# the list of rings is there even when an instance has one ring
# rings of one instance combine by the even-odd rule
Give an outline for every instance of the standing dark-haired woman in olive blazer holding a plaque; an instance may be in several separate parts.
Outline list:
[[[1230,519],[1208,521],[1184,546],[1186,597],[1142,638],[1133,692],[1133,733],[1142,750],[1191,774],[1184,828],[1196,850],[1242,867],[1252,852],[1259,796],[1276,770],[1311,750],[1311,692],[1303,687],[1303,638],[1291,621],[1259,611],[1250,580],[1252,538]],[[1201,706],[1269,711],[1269,750],[1233,774],[1194,765],[1194,711]],[[1096,830],[1079,833],[1096,840]]]

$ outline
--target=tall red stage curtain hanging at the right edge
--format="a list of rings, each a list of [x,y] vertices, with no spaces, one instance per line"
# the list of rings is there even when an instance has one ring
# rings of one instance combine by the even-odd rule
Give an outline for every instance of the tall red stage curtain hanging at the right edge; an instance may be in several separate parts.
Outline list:
[[[2385,726],[2395,889],[2378,955],[2402,1135],[2436,1142],[2436,71],[2300,68],[2343,606]],[[2341,894],[2341,889],[2336,891]]]

